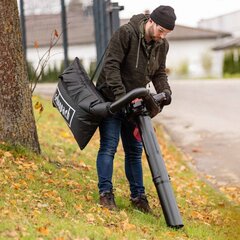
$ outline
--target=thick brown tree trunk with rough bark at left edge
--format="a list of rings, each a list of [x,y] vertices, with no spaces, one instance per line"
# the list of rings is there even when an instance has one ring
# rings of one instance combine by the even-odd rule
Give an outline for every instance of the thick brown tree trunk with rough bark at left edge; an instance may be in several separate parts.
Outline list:
[[[0,0],[0,141],[40,153],[17,0]]]

